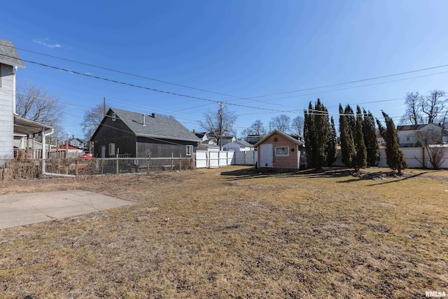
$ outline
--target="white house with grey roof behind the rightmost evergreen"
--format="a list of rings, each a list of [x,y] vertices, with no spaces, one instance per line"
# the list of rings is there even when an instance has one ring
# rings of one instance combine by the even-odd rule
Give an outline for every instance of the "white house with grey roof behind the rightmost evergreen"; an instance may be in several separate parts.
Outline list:
[[[398,143],[402,148],[416,146],[419,141],[419,134],[430,136],[431,143],[442,143],[442,127],[433,123],[426,125],[398,125],[397,126]]]

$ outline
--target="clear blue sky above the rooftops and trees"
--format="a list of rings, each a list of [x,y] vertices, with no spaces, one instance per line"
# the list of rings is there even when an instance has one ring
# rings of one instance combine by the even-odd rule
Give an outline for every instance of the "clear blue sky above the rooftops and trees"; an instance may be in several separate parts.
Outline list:
[[[384,109],[398,123],[406,92],[448,92],[448,67],[439,67],[448,64],[448,1],[18,0],[2,11],[10,13],[2,14],[0,39],[12,41],[23,60],[222,101],[239,116],[238,134],[258,119],[268,128],[274,116],[303,116],[318,97],[335,120],[342,103],[377,118]],[[78,137],[84,113],[103,97],[116,108],[172,115],[197,131],[204,113],[218,109],[216,102],[25,66],[18,84],[59,97],[62,126]],[[430,67],[439,68],[323,88]],[[309,88],[316,89],[292,92]]]

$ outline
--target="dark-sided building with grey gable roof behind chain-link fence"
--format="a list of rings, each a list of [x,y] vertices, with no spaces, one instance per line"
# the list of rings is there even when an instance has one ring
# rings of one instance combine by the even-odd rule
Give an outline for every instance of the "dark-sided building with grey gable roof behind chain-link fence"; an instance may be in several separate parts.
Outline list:
[[[200,143],[174,118],[111,108],[92,135],[94,158],[188,157]]]

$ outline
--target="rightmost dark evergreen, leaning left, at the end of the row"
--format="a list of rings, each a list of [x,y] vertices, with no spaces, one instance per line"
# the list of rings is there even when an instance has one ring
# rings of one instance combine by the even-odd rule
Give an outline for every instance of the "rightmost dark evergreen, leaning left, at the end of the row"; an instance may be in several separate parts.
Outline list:
[[[384,120],[386,121],[386,129],[384,129],[378,119],[377,125],[381,136],[384,138],[384,141],[386,141],[386,163],[388,167],[393,170],[396,169],[398,171],[398,175],[401,175],[402,169],[406,169],[407,164],[403,153],[400,150],[400,144],[398,144],[397,130],[395,129],[395,124],[393,123],[392,118],[384,113],[384,111],[381,112],[383,113]]]

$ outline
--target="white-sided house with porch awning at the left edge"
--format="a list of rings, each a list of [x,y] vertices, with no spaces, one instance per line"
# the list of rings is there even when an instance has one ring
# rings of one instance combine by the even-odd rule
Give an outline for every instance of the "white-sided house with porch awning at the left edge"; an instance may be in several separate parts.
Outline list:
[[[0,39],[0,159],[14,157],[14,135],[23,137],[51,130],[15,113],[15,74],[19,67],[25,69],[13,43]]]

